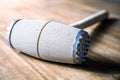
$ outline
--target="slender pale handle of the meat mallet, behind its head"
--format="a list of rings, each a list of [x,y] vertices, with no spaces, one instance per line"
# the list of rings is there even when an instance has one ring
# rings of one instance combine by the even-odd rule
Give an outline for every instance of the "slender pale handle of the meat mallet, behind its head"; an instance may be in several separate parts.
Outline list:
[[[101,10],[101,11],[81,20],[81,21],[69,24],[69,26],[84,29],[84,28],[86,28],[86,27],[88,27],[96,22],[99,22],[99,21],[102,21],[102,20],[108,18],[108,15],[109,14],[106,10]]]

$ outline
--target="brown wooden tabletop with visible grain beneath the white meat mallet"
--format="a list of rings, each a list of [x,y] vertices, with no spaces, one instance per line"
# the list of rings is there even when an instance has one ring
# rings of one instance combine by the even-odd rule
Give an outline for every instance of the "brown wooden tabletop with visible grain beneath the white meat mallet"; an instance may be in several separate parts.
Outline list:
[[[120,4],[114,0],[0,0],[0,80],[120,80]],[[6,27],[13,19],[69,24],[101,9],[110,18],[85,29],[91,35],[84,65],[39,60],[11,49]]]

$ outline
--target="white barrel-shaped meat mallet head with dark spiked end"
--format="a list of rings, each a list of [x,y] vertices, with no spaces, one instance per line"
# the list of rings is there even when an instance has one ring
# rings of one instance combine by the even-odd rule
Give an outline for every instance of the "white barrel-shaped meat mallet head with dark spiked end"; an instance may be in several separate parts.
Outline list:
[[[8,27],[8,42],[20,52],[39,59],[81,64],[89,35],[84,30],[54,21],[16,20]]]

